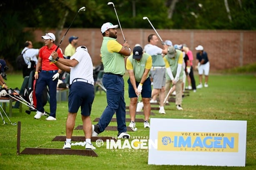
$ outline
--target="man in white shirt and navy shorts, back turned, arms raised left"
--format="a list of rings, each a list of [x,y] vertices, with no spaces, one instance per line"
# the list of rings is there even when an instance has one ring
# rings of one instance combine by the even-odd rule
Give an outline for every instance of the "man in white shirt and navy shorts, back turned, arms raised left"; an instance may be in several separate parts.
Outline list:
[[[92,123],[90,112],[94,100],[93,63],[85,46],[79,46],[70,60],[59,58],[53,51],[53,62],[61,70],[70,72],[68,95],[68,119],[66,122],[66,141],[63,149],[71,148],[71,136],[75,126],[75,117],[81,107],[83,131],[85,134],[85,149],[95,149],[91,144]]]

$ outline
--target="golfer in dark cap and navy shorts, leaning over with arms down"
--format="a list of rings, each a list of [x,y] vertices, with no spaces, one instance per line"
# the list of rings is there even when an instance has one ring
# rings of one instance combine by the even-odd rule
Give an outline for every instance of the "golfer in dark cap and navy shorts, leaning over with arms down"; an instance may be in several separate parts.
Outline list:
[[[128,92],[130,97],[129,111],[131,116],[131,123],[129,127],[135,128],[135,114],[136,103],[141,94],[144,107],[144,128],[149,128],[149,115],[151,111],[151,80],[149,78],[149,71],[152,67],[152,58],[149,54],[143,53],[141,46],[133,48],[133,54],[126,60],[126,69],[128,70],[130,78],[128,79]]]

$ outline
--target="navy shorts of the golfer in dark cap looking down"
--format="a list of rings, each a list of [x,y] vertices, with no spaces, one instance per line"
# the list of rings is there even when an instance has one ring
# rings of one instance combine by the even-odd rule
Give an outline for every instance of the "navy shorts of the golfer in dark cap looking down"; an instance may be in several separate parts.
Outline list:
[[[133,98],[133,97],[138,97],[133,89],[133,85],[131,84],[130,78],[127,80],[128,83],[128,93],[129,93],[129,97]],[[138,87],[140,83],[136,82],[136,87]],[[150,78],[147,78],[145,80],[145,82],[142,85],[142,91],[141,91],[141,97],[143,98],[151,98],[151,81]]]

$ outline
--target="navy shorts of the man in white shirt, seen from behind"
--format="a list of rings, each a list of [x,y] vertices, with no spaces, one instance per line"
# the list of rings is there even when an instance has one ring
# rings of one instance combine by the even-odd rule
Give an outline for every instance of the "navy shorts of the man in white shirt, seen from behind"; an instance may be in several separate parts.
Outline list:
[[[90,116],[94,100],[94,86],[85,82],[75,82],[69,86],[68,112],[77,113],[81,107],[83,116]]]

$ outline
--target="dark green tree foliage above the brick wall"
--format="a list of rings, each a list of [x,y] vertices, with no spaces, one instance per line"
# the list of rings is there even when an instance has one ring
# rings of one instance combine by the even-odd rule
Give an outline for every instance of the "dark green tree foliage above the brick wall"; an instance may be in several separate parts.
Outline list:
[[[105,22],[122,28],[151,28],[143,20],[148,17],[156,29],[245,29],[255,30],[256,5],[254,0],[8,0],[0,2],[0,58],[15,64],[23,43],[33,36],[25,27],[56,29],[56,39],[63,27],[99,28]],[[171,10],[170,10],[171,9]],[[40,46],[35,46],[40,48]]]

